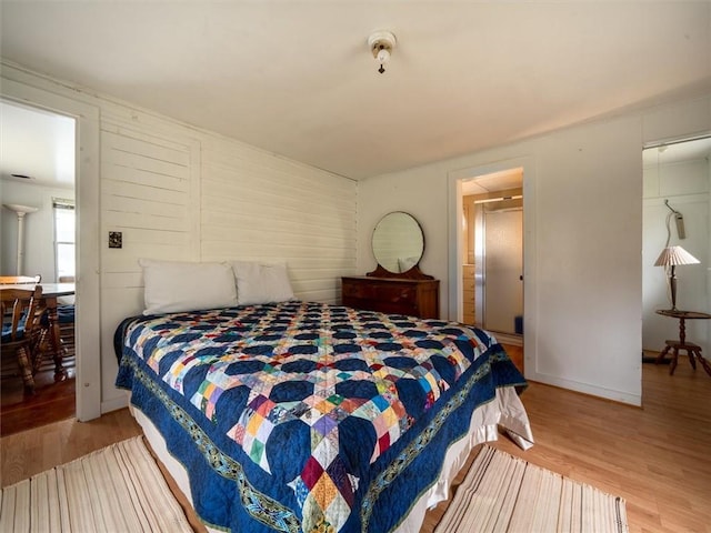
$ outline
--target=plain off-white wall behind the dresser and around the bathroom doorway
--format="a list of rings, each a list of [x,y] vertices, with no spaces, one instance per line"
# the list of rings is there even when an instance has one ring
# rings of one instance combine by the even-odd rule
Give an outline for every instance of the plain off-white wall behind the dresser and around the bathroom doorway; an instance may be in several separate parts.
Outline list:
[[[472,128],[477,128],[472,124]],[[642,148],[711,130],[711,97],[650,108],[359,184],[358,270],[374,266],[370,232],[388,211],[425,234],[422,270],[449,314],[451,177],[523,164],[527,378],[641,404]],[[454,192],[452,189],[454,188]]]

